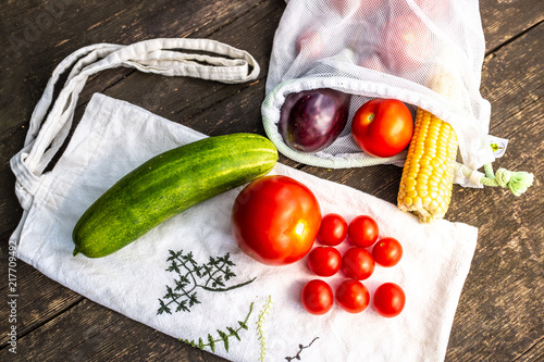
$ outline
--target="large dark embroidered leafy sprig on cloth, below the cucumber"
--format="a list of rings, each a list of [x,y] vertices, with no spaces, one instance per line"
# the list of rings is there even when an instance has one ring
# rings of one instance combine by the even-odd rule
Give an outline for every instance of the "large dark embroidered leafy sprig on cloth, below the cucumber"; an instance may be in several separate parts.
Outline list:
[[[162,299],[159,298],[160,308],[157,314],[172,314],[172,304],[175,305],[175,312],[190,312],[193,305],[200,303],[198,288],[207,291],[227,291],[256,279],[226,286],[226,282],[236,276],[231,269],[236,264],[231,260],[228,252],[223,257],[210,257],[206,264],[198,264],[193,252],[184,254],[183,250],[177,252],[170,250],[170,258],[166,261],[170,262],[166,271],[176,273],[178,278],[174,280],[175,286],[166,286],[166,294]]]

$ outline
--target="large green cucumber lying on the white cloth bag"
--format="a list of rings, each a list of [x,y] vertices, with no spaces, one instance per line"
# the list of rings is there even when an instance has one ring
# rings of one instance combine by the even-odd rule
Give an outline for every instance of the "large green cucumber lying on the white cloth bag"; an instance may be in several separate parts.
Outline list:
[[[251,179],[277,161],[265,137],[208,137],[145,162],[98,198],[74,227],[74,255],[109,255],[166,219]]]

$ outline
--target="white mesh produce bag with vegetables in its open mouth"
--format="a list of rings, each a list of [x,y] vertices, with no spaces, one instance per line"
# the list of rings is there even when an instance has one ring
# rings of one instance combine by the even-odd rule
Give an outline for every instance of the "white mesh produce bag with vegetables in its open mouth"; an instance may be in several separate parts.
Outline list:
[[[484,47],[477,0],[290,0],[274,36],[264,128],[280,152],[305,164],[403,164],[406,151],[374,158],[350,133],[354,113],[369,99],[398,99],[448,122],[461,162],[478,170],[495,159],[491,107],[479,90]],[[348,124],[326,149],[302,153],[284,142],[280,112],[287,95],[318,88],[353,95]]]

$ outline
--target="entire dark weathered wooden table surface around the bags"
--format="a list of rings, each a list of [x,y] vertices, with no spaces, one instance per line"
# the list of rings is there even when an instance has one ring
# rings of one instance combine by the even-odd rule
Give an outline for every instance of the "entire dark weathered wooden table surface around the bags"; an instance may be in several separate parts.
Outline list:
[[[129,68],[89,79],[76,120],[94,92],[123,99],[208,135],[264,135],[260,104],[282,0],[98,1],[4,0],[0,7],[0,290],[7,297],[8,239],[22,215],[9,160],[23,146],[28,121],[54,66],[78,48],[127,45],[159,37],[217,39],[249,51],[262,72],[242,85],[161,77]],[[454,186],[446,219],[479,227],[479,238],[447,348],[446,361],[544,359],[544,203],[542,0],[481,0],[486,52],[481,92],[492,104],[490,134],[508,138],[496,163],[533,172],[521,197],[505,189]],[[324,170],[281,162],[396,201],[401,170],[374,166]],[[10,310],[0,308],[0,360],[220,361],[122,316],[44,276],[16,265],[17,353],[9,352]],[[2,299],[4,300],[4,299]]]

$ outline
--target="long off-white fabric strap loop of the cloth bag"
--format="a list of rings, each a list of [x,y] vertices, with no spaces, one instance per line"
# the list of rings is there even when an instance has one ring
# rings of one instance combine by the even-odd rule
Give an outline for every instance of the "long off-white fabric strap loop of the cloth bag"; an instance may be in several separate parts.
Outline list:
[[[210,39],[160,38],[129,46],[99,43],[75,51],[53,71],[33,112],[24,148],[11,160],[20,200],[28,199],[25,194],[34,195],[44,170],[66,139],[88,77],[118,66],[226,84],[255,79],[260,72],[248,52]],[[67,68],[72,71],[53,101],[54,86]]]

